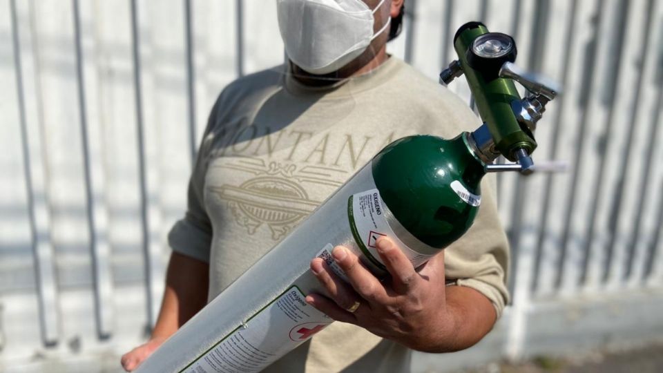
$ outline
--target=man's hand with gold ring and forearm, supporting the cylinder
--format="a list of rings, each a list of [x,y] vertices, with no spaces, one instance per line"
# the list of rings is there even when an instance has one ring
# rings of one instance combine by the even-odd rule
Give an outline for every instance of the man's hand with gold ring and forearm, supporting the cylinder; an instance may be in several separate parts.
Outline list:
[[[311,271],[332,298],[309,294],[307,302],[336,321],[425,352],[462,350],[490,331],[495,321],[490,300],[468,287],[447,289],[443,254],[416,271],[388,238],[376,246],[390,278],[378,280],[351,251],[336,247],[332,256],[350,283],[315,258]]]

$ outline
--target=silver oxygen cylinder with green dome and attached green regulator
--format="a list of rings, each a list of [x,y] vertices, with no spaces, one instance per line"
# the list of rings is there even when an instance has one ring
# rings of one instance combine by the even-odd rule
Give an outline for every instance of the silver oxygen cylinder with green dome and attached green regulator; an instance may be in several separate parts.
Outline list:
[[[464,74],[484,124],[451,140],[419,135],[387,146],[138,372],[264,369],[332,323],[303,300],[311,292],[325,292],[309,271],[313,258],[325,259],[343,277],[330,253],[344,245],[377,276],[385,276],[374,244],[379,236],[389,236],[419,267],[470,228],[487,172],[535,169],[533,133],[555,88],[513,65],[513,39],[488,32],[482,23],[462,26],[454,46],[459,60],[443,71],[441,82]],[[513,80],[530,95],[521,99]],[[517,163],[492,164],[499,155]]]

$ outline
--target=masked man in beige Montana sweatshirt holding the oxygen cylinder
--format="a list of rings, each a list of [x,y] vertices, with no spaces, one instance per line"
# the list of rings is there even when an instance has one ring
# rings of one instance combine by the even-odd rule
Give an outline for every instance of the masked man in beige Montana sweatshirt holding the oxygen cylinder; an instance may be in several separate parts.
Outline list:
[[[122,357],[133,370],[191,316],[398,137],[454,137],[479,120],[461,100],[386,53],[403,0],[278,0],[290,63],[233,82],[210,115],[189,185],[189,207],[169,234],[173,254],[151,340]],[[494,180],[482,184],[474,226],[415,271],[378,240],[390,279],[351,251],[311,271],[332,298],[309,304],[340,321],[268,372],[406,372],[410,349],[451,352],[477,343],[508,294],[506,236]],[[192,341],[193,342],[193,341]]]

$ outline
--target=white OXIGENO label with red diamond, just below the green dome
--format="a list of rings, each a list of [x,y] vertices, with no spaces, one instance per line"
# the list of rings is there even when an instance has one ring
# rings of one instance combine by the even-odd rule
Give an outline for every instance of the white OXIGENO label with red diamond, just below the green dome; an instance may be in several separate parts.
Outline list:
[[[348,212],[352,213],[354,219],[354,222],[351,220],[351,224],[354,224],[356,228],[356,236],[358,236],[356,238],[361,240],[357,243],[363,245],[363,249],[369,251],[372,257],[383,265],[384,262],[376,249],[376,240],[381,236],[389,236],[401,248],[403,254],[410,259],[415,268],[434,256],[434,254],[418,253],[398,239],[396,233],[389,226],[389,222],[387,222],[385,202],[383,202],[377,189],[370,189],[352,195],[352,211]]]

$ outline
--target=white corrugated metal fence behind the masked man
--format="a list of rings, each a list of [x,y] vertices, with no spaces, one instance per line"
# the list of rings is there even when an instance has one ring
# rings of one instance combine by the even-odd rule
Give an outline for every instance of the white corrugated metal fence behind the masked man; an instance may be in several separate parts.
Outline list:
[[[596,310],[645,294],[628,298],[644,312],[632,339],[661,332],[663,3],[406,6],[389,50],[432,79],[454,59],[456,28],[481,20],[565,87],[535,160],[570,171],[499,180],[514,300],[490,356],[555,351],[541,337],[555,333],[573,345],[538,324],[566,312],[553,322],[566,325],[570,301]],[[207,112],[232,79],[282,63],[277,30],[274,1],[0,3],[0,371],[113,370],[144,338]],[[470,102],[462,80],[450,88]],[[608,324],[594,326],[619,332]]]

